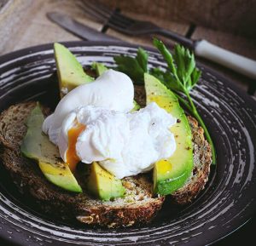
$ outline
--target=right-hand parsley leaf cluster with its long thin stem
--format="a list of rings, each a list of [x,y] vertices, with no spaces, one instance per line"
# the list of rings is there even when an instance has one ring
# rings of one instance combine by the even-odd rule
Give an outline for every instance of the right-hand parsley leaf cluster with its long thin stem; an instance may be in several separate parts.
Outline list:
[[[166,84],[168,89],[172,89],[177,95],[177,98],[186,106],[197,121],[204,129],[207,140],[212,146],[212,163],[216,163],[215,148],[213,146],[211,135],[208,132],[207,126],[203,122],[200,114],[197,112],[195,104],[190,97],[189,91],[195,86],[201,77],[201,71],[195,67],[195,56],[181,45],[176,45],[174,54],[166,48],[165,44],[154,38],[154,46],[160,51],[163,58],[166,60],[168,68],[166,72],[154,72],[160,78],[160,81]],[[182,92],[186,95],[186,100],[178,93]]]

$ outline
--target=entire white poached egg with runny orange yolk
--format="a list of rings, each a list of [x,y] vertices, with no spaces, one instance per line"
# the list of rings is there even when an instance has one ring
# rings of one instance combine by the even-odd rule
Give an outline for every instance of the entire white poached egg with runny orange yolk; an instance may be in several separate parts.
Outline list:
[[[176,143],[170,128],[176,118],[155,103],[130,112],[133,91],[129,77],[108,70],[73,89],[45,119],[43,131],[70,169],[79,161],[96,161],[121,179],[172,156]]]

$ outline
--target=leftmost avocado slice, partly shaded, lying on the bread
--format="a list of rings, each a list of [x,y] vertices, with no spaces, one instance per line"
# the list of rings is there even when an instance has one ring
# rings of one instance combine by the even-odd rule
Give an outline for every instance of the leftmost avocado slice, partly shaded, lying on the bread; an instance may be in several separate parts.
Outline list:
[[[67,163],[61,162],[57,147],[42,133],[43,122],[44,115],[37,105],[27,118],[27,132],[20,146],[21,152],[38,161],[39,168],[51,183],[70,192],[82,192]]]

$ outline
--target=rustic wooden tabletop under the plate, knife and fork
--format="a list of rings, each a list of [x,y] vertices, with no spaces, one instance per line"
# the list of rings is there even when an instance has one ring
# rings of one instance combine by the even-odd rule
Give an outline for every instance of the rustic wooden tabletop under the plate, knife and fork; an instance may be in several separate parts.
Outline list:
[[[45,15],[50,11],[69,14],[85,25],[95,28],[98,31],[102,31],[102,24],[90,20],[84,11],[79,8],[79,0],[2,0],[2,2],[0,1],[0,8],[1,3],[3,8],[0,9],[0,55],[42,43],[79,40],[78,37],[73,36],[69,32],[50,22]],[[231,51],[246,55],[247,57],[256,60],[256,42],[253,39],[235,36],[224,31],[213,31],[202,26],[195,26],[195,28],[193,28],[195,30],[191,31],[191,26],[188,24],[181,24],[170,20],[160,20],[160,18],[145,14],[123,12],[131,17],[136,17],[137,19],[154,21],[154,23],[159,26],[172,31],[177,31],[180,34],[192,38],[206,38],[212,43],[218,44],[220,47],[230,49]],[[149,37],[127,37],[110,29],[107,30],[107,33],[114,37],[119,37],[126,42],[152,46]],[[162,39],[166,41],[166,43],[173,44],[165,38]],[[202,60],[202,62],[207,64],[207,66],[216,69],[225,77],[228,77],[242,90],[247,91],[249,86],[251,86],[251,90],[253,88],[255,89],[255,81],[238,75],[236,72],[231,72],[222,66],[212,64],[211,62],[205,60]],[[256,226],[255,219],[253,222],[250,222],[248,226],[245,226],[236,232],[232,237],[228,237],[228,239],[218,243],[218,245],[229,245],[232,240],[238,238],[247,238],[248,240],[251,236],[248,230],[252,226],[254,226],[254,228]],[[6,246],[6,244],[4,243],[1,246]]]

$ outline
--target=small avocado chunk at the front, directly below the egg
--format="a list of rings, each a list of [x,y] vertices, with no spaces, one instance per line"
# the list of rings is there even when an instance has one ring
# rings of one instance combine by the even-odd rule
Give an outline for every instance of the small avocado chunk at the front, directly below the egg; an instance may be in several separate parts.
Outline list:
[[[102,169],[96,162],[91,164],[87,187],[92,195],[102,200],[122,197],[125,193],[121,180],[116,179],[113,174],[109,174],[108,171]]]

